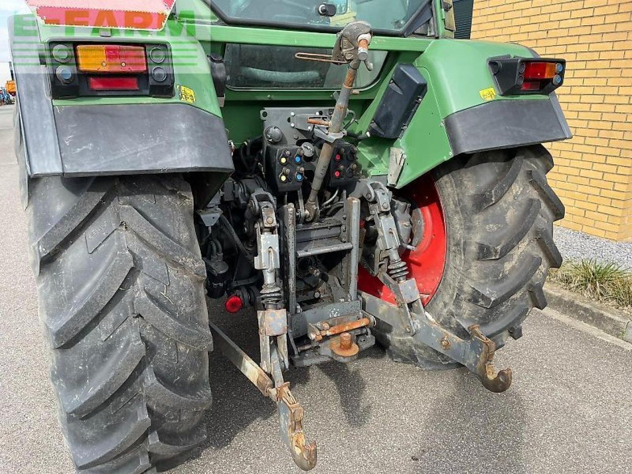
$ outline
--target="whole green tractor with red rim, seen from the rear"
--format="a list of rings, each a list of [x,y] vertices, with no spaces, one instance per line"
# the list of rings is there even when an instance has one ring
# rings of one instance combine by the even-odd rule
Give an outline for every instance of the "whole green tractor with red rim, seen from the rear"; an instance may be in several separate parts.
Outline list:
[[[509,388],[495,351],[561,264],[542,143],[571,137],[562,59],[455,40],[451,0],[107,3],[9,25],[39,311],[79,473],[154,473],[202,444],[214,349],[277,404],[303,470],[317,447],[291,367],[380,344]],[[210,300],[258,326],[260,360]]]

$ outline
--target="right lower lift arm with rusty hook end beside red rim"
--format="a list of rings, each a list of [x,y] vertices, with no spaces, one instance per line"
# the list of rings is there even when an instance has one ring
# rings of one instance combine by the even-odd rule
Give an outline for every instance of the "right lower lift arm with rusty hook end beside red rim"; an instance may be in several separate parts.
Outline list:
[[[430,313],[422,310],[415,313],[413,324],[416,326],[414,335],[408,333],[404,327],[405,320],[402,308],[386,303],[368,293],[361,293],[362,309],[375,318],[385,322],[402,336],[410,336],[413,343],[424,344],[438,351],[455,362],[465,365],[487,390],[501,393],[511,386],[511,368],[496,372],[494,354],[496,344],[485,336],[478,325],[468,328],[470,339],[462,339],[440,325]]]

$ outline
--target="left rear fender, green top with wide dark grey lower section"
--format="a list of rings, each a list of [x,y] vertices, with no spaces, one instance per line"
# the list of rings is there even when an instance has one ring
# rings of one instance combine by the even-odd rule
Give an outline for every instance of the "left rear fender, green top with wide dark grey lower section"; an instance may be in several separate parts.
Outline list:
[[[90,28],[43,26],[32,15],[9,20],[23,187],[27,188],[28,179],[42,176],[204,172],[212,174],[210,181],[216,183],[216,189],[207,193],[216,192],[233,172],[233,161],[209,61],[200,43],[174,21],[161,32],[111,30],[107,39],[99,33]],[[61,38],[166,42],[179,51],[174,61],[174,97],[52,100],[40,56],[49,40]],[[183,49],[185,54],[181,54]],[[180,57],[185,59],[179,61]],[[181,87],[189,94],[179,94]]]

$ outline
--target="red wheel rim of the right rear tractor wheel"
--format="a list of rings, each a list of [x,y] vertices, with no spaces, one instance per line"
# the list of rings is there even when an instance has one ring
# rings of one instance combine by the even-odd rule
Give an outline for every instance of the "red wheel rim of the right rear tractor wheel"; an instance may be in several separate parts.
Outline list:
[[[446,219],[439,191],[430,174],[408,186],[404,195],[422,211],[424,230],[417,250],[404,253],[402,259],[408,264],[410,276],[417,282],[423,305],[427,306],[437,293],[446,268]],[[384,301],[395,303],[392,291],[363,267],[358,272],[358,288]]]

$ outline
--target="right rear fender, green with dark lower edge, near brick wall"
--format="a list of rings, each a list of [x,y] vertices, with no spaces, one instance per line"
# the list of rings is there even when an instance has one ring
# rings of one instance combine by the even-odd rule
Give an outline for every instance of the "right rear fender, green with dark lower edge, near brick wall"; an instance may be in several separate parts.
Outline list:
[[[428,92],[393,145],[406,154],[398,188],[457,155],[571,138],[555,93],[495,92],[487,61],[507,54],[537,56],[517,44],[441,39],[416,59]]]

